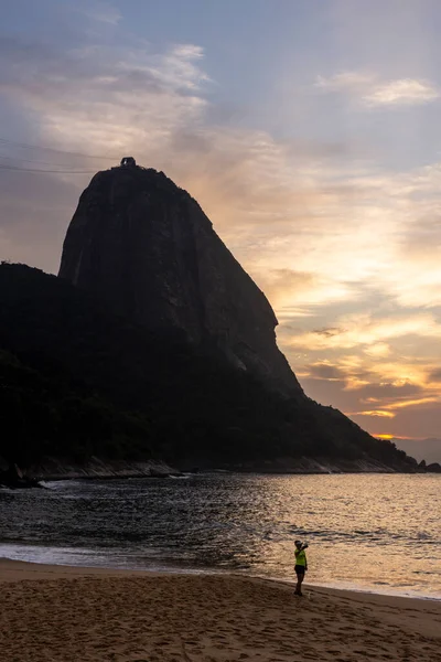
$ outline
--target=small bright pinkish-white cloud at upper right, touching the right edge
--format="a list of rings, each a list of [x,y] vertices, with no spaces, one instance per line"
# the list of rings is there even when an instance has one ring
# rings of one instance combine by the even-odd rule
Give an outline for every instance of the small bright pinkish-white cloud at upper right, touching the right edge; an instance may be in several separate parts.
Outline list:
[[[318,76],[315,87],[327,93],[345,93],[367,108],[415,106],[441,96],[430,82],[417,78],[381,81],[368,72],[342,72],[325,78]]]

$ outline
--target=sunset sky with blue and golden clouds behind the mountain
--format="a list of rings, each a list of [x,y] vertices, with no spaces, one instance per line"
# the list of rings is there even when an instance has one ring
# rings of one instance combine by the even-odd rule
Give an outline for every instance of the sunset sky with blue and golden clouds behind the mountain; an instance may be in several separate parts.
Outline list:
[[[133,156],[200,202],[309,396],[441,438],[438,0],[0,4],[2,259],[56,273]]]

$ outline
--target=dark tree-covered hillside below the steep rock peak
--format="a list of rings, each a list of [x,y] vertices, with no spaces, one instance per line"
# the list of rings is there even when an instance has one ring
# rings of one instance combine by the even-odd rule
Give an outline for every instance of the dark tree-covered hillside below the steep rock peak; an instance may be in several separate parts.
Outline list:
[[[0,456],[228,465],[411,460],[332,407],[284,399],[179,335],[157,337],[71,284],[0,266]]]

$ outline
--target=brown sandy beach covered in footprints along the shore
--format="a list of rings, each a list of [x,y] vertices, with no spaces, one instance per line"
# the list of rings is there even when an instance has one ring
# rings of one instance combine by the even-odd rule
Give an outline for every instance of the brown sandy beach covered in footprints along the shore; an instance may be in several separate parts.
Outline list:
[[[0,562],[1,662],[441,661],[441,601]]]

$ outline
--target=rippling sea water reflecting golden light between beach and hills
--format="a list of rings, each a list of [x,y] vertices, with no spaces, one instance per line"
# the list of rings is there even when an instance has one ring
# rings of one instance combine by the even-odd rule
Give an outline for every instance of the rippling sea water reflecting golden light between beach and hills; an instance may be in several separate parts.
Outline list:
[[[228,570],[441,598],[441,476],[243,476],[62,481],[0,491],[0,556],[82,566]]]

